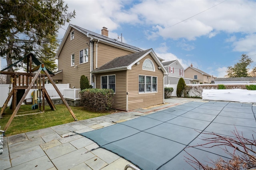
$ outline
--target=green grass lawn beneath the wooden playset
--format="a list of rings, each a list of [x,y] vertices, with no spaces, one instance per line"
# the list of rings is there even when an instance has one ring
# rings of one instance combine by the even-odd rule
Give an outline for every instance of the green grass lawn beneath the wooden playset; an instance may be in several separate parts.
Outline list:
[[[25,114],[20,112],[32,111],[32,105],[22,105],[18,111],[17,115]],[[6,136],[16,135],[20,133],[25,133],[28,131],[34,131],[46,127],[61,125],[64,123],[70,123],[74,121],[71,113],[68,111],[67,107],[64,104],[55,105],[56,111],[51,110],[50,106],[45,106],[45,112],[35,115],[24,115],[14,117],[12,123],[5,132]],[[98,117],[102,115],[108,115],[111,112],[97,113],[92,111],[86,111],[82,106],[81,107],[72,107],[70,106],[78,120],[90,119],[92,117]],[[34,110],[38,112],[38,109]],[[33,113],[33,112],[28,112]],[[6,108],[3,118],[0,119],[1,130],[4,129],[6,123],[12,115],[12,109]]]

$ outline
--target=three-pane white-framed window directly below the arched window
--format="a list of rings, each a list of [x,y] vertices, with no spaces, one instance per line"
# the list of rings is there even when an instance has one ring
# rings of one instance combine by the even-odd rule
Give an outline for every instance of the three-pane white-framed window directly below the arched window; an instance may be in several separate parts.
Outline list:
[[[157,77],[139,76],[139,93],[157,92]]]

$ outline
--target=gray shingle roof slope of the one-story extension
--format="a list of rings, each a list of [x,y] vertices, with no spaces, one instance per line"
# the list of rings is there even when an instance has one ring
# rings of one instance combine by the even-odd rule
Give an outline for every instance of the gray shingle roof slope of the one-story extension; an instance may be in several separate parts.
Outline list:
[[[113,59],[112,61],[100,66],[99,68],[96,68],[95,70],[92,71],[92,73],[102,71],[102,70],[109,70],[112,68],[116,68],[116,69],[126,68],[150,50],[151,49],[148,49],[145,51],[140,51],[140,52],[129,54],[129,55],[124,55],[121,57],[117,57],[117,58]]]

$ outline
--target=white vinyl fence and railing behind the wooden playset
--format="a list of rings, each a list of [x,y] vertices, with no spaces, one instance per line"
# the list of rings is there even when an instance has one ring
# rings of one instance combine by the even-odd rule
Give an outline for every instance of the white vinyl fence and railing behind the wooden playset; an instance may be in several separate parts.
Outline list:
[[[62,96],[66,99],[71,99],[71,100],[79,100],[80,99],[80,88],[69,88],[69,84],[56,84],[56,86],[58,87],[58,89],[60,90],[60,93],[62,94]],[[4,102],[6,101],[6,99],[8,98],[8,94],[9,94],[9,87],[10,91],[12,90],[12,84],[11,86],[9,84],[0,84],[0,107],[2,107],[4,105]],[[45,84],[44,85],[47,93],[49,94],[51,99],[59,99],[60,96],[57,93],[57,91],[55,90],[55,88],[53,87],[52,84]],[[28,92],[28,95],[26,96],[25,99],[31,98],[31,93],[36,90],[34,88],[30,89],[30,91]],[[8,106],[10,106],[12,102],[12,98],[10,99],[10,101],[8,102]]]

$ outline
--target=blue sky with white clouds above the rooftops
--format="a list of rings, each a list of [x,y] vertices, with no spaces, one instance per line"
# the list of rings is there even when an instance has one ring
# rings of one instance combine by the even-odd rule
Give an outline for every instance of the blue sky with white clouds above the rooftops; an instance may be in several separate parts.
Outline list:
[[[256,66],[256,1],[66,0],[76,11],[70,23],[141,49],[152,48],[165,61],[176,60],[216,77],[224,77],[242,54]],[[64,36],[68,23],[59,30]],[[119,39],[120,40],[120,39]],[[121,40],[120,40],[121,41]],[[3,62],[2,62],[3,65]]]

